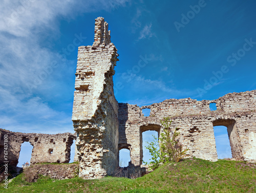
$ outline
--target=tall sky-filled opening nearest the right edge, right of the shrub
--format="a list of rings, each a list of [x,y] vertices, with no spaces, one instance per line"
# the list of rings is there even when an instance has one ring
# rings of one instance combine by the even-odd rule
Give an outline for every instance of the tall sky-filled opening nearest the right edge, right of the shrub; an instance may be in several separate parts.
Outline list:
[[[215,126],[214,135],[215,135],[218,159],[232,158],[227,127]]]

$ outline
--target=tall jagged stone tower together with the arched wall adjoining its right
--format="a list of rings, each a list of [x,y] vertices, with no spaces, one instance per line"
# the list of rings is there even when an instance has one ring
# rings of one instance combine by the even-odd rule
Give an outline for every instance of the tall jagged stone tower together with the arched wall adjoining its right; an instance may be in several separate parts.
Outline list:
[[[217,161],[214,126],[226,126],[232,157],[256,161],[256,91],[229,93],[213,101],[170,99],[138,107],[117,103],[113,91],[118,54],[110,40],[108,23],[95,22],[93,45],[78,48],[73,125],[77,132],[79,176],[87,179],[112,175],[119,150],[131,152],[130,166],[142,164],[142,132],[162,131],[160,120],[172,117],[172,129],[180,132],[186,157]],[[217,110],[210,111],[209,104]],[[145,117],[142,109],[151,109]]]

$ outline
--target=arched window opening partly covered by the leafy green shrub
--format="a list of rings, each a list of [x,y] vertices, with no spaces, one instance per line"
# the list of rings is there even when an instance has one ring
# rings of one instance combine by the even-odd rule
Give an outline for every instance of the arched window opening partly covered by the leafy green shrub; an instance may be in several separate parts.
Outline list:
[[[155,136],[158,140],[158,132],[157,131],[144,131],[142,132],[142,150],[143,150],[143,164],[145,162],[150,163],[152,160],[152,156],[150,154],[150,151],[148,149],[146,149],[146,147],[148,147],[148,143],[153,142],[155,139]],[[147,143],[148,142],[148,143]],[[158,150],[159,150],[159,146],[157,146]]]

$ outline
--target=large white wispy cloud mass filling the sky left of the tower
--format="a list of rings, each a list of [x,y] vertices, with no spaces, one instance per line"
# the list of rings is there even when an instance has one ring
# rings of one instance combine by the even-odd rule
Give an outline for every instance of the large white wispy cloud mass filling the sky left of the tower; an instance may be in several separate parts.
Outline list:
[[[57,39],[60,18],[70,20],[83,13],[111,11],[127,2],[2,1],[0,128],[19,132],[73,132],[71,114],[52,108],[48,101],[66,89],[65,75],[72,73],[70,64],[74,65],[76,61],[63,62],[57,57],[57,51],[42,47],[39,43],[41,35],[50,33]],[[56,69],[53,69],[53,62],[57,62]]]

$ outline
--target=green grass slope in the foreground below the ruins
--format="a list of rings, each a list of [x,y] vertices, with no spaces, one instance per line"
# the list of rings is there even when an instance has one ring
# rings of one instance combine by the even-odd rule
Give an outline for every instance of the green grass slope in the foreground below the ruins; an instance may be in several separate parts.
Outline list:
[[[35,183],[16,177],[5,192],[256,192],[256,164],[219,160],[186,159],[164,164],[137,179],[105,177],[73,178],[53,182],[40,177]]]

